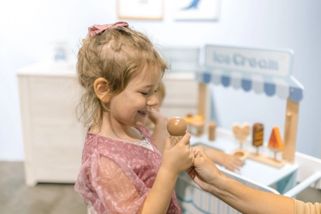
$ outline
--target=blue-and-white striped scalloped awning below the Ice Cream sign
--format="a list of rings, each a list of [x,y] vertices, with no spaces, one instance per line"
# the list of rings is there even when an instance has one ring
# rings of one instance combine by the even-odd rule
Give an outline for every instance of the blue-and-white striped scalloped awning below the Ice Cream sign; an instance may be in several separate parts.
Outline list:
[[[303,85],[293,76],[289,78],[267,77],[259,74],[246,74],[242,72],[224,72],[220,70],[199,71],[196,80],[206,84],[222,84],[224,87],[232,86],[234,89],[242,88],[245,91],[253,90],[256,93],[266,93],[267,96],[278,95],[282,99],[290,98],[293,102],[300,102],[303,98]]]

